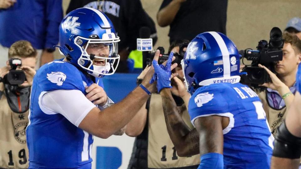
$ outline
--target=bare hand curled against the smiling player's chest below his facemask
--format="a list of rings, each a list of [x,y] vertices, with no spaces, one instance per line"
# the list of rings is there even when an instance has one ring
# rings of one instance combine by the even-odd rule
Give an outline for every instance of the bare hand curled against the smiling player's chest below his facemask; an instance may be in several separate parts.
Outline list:
[[[108,96],[102,87],[93,83],[89,87],[86,87],[87,99],[95,105],[103,106],[108,102]]]

